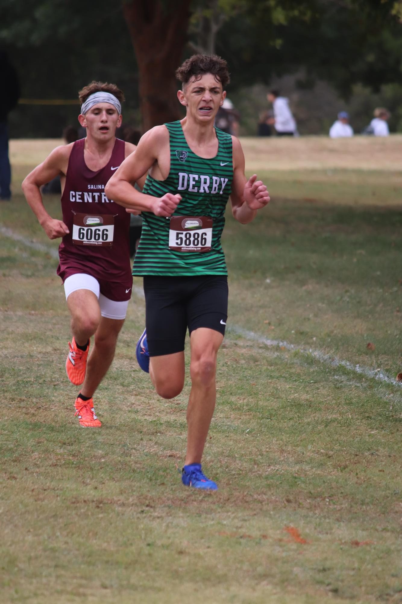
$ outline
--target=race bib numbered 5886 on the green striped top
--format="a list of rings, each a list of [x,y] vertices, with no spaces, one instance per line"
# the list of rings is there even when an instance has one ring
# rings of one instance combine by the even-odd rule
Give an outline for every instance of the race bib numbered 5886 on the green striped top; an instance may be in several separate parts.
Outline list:
[[[209,251],[212,224],[209,216],[173,216],[169,226],[169,249],[177,252]]]

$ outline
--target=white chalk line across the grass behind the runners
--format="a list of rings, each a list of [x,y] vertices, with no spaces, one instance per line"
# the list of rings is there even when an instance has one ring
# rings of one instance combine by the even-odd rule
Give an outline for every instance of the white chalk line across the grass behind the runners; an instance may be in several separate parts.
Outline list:
[[[54,248],[50,248],[49,246],[43,245],[42,243],[37,243],[35,241],[30,241],[26,237],[15,233],[7,226],[0,225],[0,233],[5,237],[9,237],[14,241],[19,243],[23,243],[28,248],[36,249],[40,252],[45,252],[46,254],[51,255],[53,258],[58,259],[58,251]],[[139,297],[144,297],[144,292],[142,288],[137,286],[133,286],[134,294]],[[309,355],[313,358],[317,359],[317,361],[321,363],[325,363],[327,365],[331,365],[331,367],[345,367],[349,371],[354,371],[355,373],[359,373],[365,377],[372,377],[379,382],[385,382],[386,384],[392,384],[394,386],[401,387],[402,382],[397,382],[394,377],[391,377],[385,373],[382,369],[370,369],[369,367],[363,367],[362,365],[353,365],[350,361],[343,361],[342,359],[338,359],[336,356],[327,355],[321,350],[314,350],[312,348],[306,348],[303,346],[296,346],[295,344],[289,344],[289,342],[281,341],[281,340],[272,340],[269,338],[265,338],[259,333],[250,332],[243,327],[233,325],[230,326],[229,332],[232,331],[237,335],[242,336],[242,338],[259,342],[259,344],[264,344],[269,348],[285,348],[286,350],[291,350],[291,352],[301,352],[303,355]]]

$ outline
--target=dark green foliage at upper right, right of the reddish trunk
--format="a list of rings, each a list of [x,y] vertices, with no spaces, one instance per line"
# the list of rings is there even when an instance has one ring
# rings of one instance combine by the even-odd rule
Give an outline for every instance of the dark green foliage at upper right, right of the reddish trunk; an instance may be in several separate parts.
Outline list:
[[[216,52],[233,88],[269,83],[304,68],[301,87],[327,80],[347,96],[356,83],[378,91],[402,76],[402,2],[224,0]],[[223,8],[222,8],[223,10]]]

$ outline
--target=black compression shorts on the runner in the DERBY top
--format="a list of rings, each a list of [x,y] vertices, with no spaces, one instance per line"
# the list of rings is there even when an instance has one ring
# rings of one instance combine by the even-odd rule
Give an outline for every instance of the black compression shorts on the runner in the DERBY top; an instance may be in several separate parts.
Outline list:
[[[184,350],[189,333],[207,327],[225,335],[227,277],[144,277],[146,342],[149,356]]]

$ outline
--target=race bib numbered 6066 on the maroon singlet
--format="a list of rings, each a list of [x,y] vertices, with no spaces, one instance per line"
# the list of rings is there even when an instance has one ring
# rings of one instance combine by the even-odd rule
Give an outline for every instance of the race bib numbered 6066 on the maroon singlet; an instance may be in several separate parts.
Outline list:
[[[74,245],[113,245],[115,218],[111,214],[74,214],[72,242]]]

